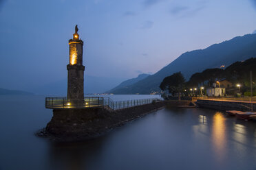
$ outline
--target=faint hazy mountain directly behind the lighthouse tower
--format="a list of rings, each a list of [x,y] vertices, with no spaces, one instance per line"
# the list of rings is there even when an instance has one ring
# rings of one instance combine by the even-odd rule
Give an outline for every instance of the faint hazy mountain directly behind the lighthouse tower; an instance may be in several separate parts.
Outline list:
[[[122,78],[116,77],[95,77],[91,75],[85,75],[85,94],[105,93],[105,91],[114,88],[123,80],[124,79]],[[33,88],[32,91],[41,95],[65,96],[67,95],[67,78]]]

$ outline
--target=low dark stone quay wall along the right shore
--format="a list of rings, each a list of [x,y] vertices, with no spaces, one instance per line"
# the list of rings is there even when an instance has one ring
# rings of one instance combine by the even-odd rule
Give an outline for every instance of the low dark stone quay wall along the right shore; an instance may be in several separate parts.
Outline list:
[[[253,108],[253,110],[256,110],[256,103],[250,103],[246,101],[198,99],[196,101],[196,104],[202,108],[211,108],[216,110],[251,111],[251,108]]]

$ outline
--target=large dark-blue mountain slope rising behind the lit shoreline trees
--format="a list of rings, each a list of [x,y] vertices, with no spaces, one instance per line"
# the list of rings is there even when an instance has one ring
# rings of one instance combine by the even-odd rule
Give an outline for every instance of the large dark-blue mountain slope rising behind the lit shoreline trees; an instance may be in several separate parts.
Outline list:
[[[115,94],[149,94],[159,91],[159,85],[164,79],[175,72],[181,71],[186,80],[196,72],[205,69],[228,66],[236,61],[256,57],[256,34],[237,36],[220,44],[211,45],[206,49],[198,49],[183,53],[169,65],[164,66],[154,75],[150,75],[139,82],[118,89]]]

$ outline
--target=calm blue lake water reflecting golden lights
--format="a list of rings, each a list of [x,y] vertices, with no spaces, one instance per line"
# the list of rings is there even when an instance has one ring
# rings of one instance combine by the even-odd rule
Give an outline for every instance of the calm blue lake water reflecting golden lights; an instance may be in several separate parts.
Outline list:
[[[0,169],[256,169],[256,122],[165,108],[94,140],[56,145],[34,136],[52,117],[44,102],[0,96]]]

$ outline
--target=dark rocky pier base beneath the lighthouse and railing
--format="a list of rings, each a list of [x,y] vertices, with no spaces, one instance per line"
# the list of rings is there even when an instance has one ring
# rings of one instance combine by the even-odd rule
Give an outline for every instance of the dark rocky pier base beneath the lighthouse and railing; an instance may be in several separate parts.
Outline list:
[[[70,110],[53,110],[52,120],[37,136],[50,138],[55,142],[86,141],[102,136],[115,127],[144,117],[150,112],[164,108],[167,101],[152,104],[108,110],[107,108],[86,108]]]

